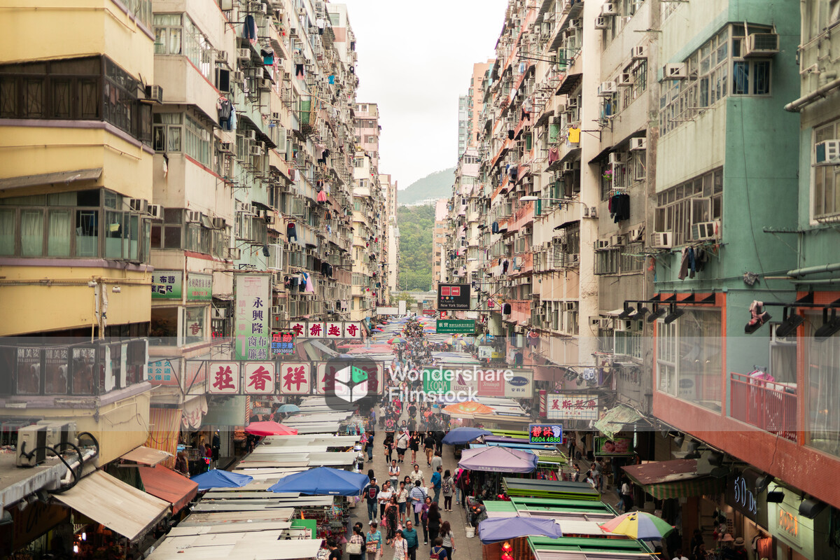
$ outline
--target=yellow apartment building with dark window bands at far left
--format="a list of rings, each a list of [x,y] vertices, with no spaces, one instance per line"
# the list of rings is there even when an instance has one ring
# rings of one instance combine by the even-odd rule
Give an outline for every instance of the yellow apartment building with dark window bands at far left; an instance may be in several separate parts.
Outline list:
[[[152,6],[36,4],[0,22],[0,409],[13,430],[74,421],[104,466],[149,422]]]

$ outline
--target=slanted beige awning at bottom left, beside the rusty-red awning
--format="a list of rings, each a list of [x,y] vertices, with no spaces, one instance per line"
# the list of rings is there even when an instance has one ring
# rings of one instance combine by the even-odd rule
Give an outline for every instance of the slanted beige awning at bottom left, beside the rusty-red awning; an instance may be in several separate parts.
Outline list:
[[[169,513],[169,503],[102,471],[53,498],[129,540],[142,536]]]

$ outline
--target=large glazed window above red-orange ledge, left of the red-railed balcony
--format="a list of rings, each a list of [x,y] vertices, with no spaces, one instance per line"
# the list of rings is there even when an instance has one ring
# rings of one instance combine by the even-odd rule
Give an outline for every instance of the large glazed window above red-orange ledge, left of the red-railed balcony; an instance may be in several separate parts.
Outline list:
[[[721,311],[681,309],[675,322],[657,321],[657,390],[720,411]]]

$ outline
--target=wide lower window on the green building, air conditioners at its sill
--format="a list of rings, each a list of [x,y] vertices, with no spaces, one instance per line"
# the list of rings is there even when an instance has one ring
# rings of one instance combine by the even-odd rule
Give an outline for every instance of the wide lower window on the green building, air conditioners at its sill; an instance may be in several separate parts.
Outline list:
[[[659,192],[655,231],[671,232],[674,245],[690,242],[693,224],[721,220],[722,193],[722,168]]]

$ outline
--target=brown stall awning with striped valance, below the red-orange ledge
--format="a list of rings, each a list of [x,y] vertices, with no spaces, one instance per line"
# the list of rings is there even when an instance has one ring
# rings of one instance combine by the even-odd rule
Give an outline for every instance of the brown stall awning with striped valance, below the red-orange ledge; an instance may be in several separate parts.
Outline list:
[[[720,494],[726,478],[697,472],[697,459],[674,459],[622,467],[634,483],[658,500]]]

